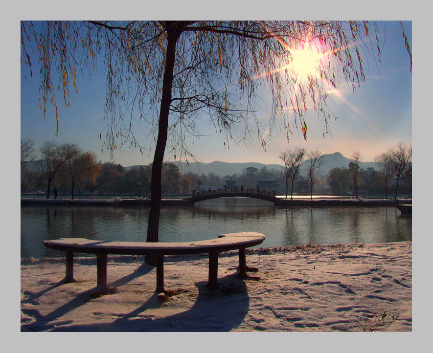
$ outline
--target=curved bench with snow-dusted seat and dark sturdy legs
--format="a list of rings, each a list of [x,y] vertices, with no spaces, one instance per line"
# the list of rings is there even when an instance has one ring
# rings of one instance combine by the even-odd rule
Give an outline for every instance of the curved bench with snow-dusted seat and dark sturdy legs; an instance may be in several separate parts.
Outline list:
[[[93,296],[112,293],[107,285],[107,255],[154,255],[157,267],[158,293],[164,292],[164,255],[209,254],[209,275],[207,287],[216,289],[218,285],[218,255],[222,251],[239,250],[239,276],[248,277],[246,271],[257,270],[246,265],[245,249],[263,243],[265,236],[255,232],[222,234],[217,239],[183,243],[139,243],[105,242],[84,238],[61,238],[44,240],[42,243],[50,249],[66,252],[65,282],[75,282],[73,278],[73,254],[88,253],[96,255],[97,291]]]

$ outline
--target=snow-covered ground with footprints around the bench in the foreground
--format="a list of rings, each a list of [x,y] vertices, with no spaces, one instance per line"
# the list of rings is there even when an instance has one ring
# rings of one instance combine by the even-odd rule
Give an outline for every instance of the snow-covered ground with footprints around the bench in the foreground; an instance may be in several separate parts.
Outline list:
[[[207,256],[109,257],[114,294],[92,298],[94,258],[21,263],[21,331],[411,331],[411,242],[306,245],[250,250],[260,280],[236,277],[236,252],[219,258],[220,289],[205,287]]]

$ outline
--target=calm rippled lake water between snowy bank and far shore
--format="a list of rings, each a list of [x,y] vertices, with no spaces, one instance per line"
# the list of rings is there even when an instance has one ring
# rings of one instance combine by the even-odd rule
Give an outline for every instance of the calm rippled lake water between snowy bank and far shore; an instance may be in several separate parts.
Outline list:
[[[145,241],[148,214],[148,207],[22,206],[21,257],[63,257],[63,252],[42,244],[48,239]],[[284,208],[246,198],[161,209],[160,242],[206,240],[241,231],[265,234],[264,243],[256,247],[388,243],[412,240],[412,218],[393,206]]]

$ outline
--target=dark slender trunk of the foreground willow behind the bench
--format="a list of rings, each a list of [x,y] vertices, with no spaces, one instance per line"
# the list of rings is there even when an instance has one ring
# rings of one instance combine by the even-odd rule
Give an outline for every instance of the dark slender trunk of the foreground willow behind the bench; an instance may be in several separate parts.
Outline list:
[[[162,81],[162,97],[160,107],[160,120],[158,125],[158,139],[152,164],[151,195],[149,221],[147,223],[147,242],[158,242],[160,228],[161,209],[161,175],[165,146],[168,133],[168,115],[171,103],[171,89],[173,83],[174,59],[176,53],[176,41],[178,35],[176,28],[167,29],[167,53],[165,57],[164,77]],[[149,265],[155,265],[154,256],[146,255],[144,261]]]

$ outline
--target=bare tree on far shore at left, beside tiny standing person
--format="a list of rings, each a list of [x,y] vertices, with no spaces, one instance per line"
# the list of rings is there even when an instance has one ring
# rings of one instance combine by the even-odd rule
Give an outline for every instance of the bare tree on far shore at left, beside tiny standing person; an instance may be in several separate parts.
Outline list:
[[[47,177],[46,198],[49,199],[51,181],[65,164],[67,154],[64,146],[59,146],[54,141],[46,141],[42,144],[40,152],[42,159],[39,161],[39,170]]]

